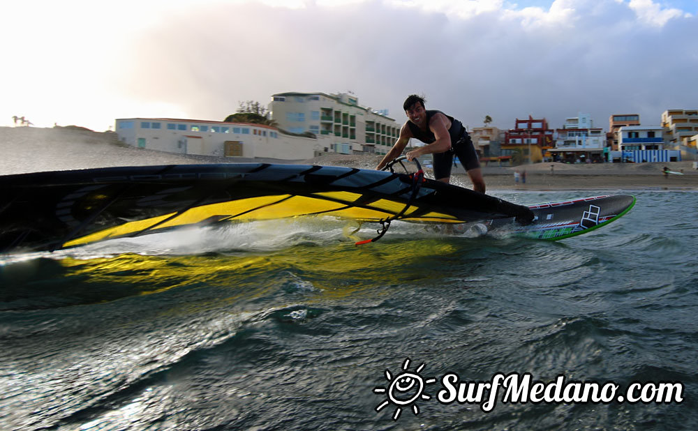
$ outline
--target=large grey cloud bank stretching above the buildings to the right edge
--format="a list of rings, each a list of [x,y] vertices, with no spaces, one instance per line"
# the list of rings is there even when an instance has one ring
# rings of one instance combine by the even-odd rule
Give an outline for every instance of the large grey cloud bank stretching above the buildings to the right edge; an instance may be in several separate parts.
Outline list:
[[[283,91],[350,90],[398,121],[403,99],[424,93],[469,126],[490,115],[500,128],[528,114],[560,127],[578,112],[597,127],[626,112],[650,125],[698,106],[696,17],[652,25],[615,0],[472,17],[391,4],[172,13],[130,47],[119,85],[206,119]]]

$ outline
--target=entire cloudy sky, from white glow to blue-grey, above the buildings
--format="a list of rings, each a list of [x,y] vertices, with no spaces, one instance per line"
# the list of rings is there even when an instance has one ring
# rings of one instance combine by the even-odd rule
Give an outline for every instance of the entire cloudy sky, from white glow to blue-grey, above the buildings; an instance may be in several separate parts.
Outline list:
[[[15,1],[0,15],[0,125],[222,120],[239,101],[426,96],[468,126],[698,107],[698,0]]]

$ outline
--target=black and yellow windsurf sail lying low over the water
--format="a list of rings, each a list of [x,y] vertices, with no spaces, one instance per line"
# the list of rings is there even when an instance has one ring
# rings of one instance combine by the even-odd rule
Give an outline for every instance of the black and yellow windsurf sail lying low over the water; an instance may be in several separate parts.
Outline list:
[[[107,167],[0,176],[0,250],[58,250],[249,220],[362,222],[510,218],[521,206],[410,174],[239,163]]]

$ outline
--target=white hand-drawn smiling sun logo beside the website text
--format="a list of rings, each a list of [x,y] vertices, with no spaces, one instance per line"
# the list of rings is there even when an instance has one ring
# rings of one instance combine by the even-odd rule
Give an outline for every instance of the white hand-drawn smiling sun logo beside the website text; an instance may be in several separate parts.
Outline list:
[[[429,400],[431,396],[424,393],[424,386],[436,381],[436,379],[427,379],[425,381],[424,378],[419,375],[419,372],[422,372],[424,368],[424,363],[419,365],[415,372],[410,372],[408,368],[410,368],[410,358],[405,359],[402,365],[403,371],[395,377],[393,377],[390,370],[385,370],[385,379],[390,382],[387,389],[385,386],[376,386],[373,388],[373,393],[387,393],[387,400],[378,404],[378,406],[376,406],[376,411],[382,410],[391,403],[396,406],[395,413],[393,414],[393,421],[397,421],[402,409],[408,408],[410,405],[412,406],[412,411],[415,416],[419,414],[419,407],[415,402],[417,402],[417,400]]]

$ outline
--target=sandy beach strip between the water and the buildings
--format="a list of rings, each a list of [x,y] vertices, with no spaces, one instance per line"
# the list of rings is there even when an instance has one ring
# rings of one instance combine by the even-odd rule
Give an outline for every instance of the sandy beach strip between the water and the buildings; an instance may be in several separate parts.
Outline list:
[[[187,156],[136,149],[121,144],[116,133],[69,128],[0,127],[0,174],[23,174],[93,167],[201,164],[231,162],[227,158]],[[373,169],[381,156],[329,154],[309,160],[275,162],[333,165]],[[272,160],[265,160],[272,161]],[[662,168],[683,175],[664,176]],[[698,171],[692,161],[660,163],[604,163],[566,165],[538,163],[519,167],[483,167],[488,190],[632,190],[657,188],[698,190]],[[526,171],[526,183],[514,182],[514,170]],[[431,170],[425,169],[431,177]],[[454,169],[452,183],[470,187],[462,167]]]

